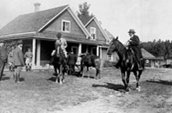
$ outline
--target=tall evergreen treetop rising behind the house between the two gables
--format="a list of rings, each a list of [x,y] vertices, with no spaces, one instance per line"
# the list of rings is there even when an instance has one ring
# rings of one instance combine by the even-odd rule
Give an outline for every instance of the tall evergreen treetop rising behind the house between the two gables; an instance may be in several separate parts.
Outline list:
[[[93,17],[93,15],[89,13],[89,8],[90,4],[87,2],[79,5],[79,12],[77,15],[84,25]]]

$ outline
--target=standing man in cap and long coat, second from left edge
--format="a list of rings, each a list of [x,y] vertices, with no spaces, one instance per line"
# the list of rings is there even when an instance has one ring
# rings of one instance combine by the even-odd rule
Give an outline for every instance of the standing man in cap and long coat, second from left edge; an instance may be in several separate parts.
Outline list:
[[[23,42],[22,40],[19,40],[17,42],[17,46],[14,49],[14,73],[13,76],[15,77],[15,82],[20,82],[20,73],[22,70],[22,67],[24,66],[24,56],[22,52],[22,46]]]

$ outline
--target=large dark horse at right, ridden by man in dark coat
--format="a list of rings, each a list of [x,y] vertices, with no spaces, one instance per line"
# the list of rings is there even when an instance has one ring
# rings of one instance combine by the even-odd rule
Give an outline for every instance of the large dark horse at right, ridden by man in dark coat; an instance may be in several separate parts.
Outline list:
[[[116,51],[119,56],[119,68],[121,70],[122,81],[125,89],[127,91],[129,90],[128,84],[130,73],[133,72],[137,81],[136,90],[140,91],[139,79],[143,69],[139,70],[134,52],[131,49],[126,49],[126,47],[118,40],[118,37],[111,41],[107,54],[111,55],[114,51]],[[141,65],[144,67],[144,60],[141,61]]]

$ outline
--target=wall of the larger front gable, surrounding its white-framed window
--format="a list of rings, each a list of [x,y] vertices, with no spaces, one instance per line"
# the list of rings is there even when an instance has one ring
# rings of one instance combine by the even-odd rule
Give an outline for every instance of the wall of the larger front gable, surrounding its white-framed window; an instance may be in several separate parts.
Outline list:
[[[70,28],[70,34],[78,35],[80,38],[86,38],[84,32],[81,30],[79,25],[76,23],[76,21],[73,19],[71,14],[68,12],[68,10],[64,11],[58,18],[54,20],[45,30],[44,32],[50,31],[50,32],[59,32],[61,31],[61,24],[62,20],[70,21],[71,28]]]

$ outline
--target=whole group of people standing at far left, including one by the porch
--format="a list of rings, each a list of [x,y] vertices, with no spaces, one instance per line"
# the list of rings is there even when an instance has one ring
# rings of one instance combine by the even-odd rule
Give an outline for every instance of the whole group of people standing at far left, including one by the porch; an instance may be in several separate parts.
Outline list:
[[[29,66],[31,69],[31,60],[32,60],[32,52],[29,48],[28,51],[23,54],[23,41],[18,40],[11,43],[7,49],[7,43],[5,41],[0,42],[0,77],[3,76],[3,71],[6,63],[8,63],[9,70],[13,72],[13,77],[15,78],[15,82],[20,82],[20,72],[23,66],[26,65],[26,68]],[[24,59],[25,62],[24,62]],[[0,79],[1,79],[0,78]]]

